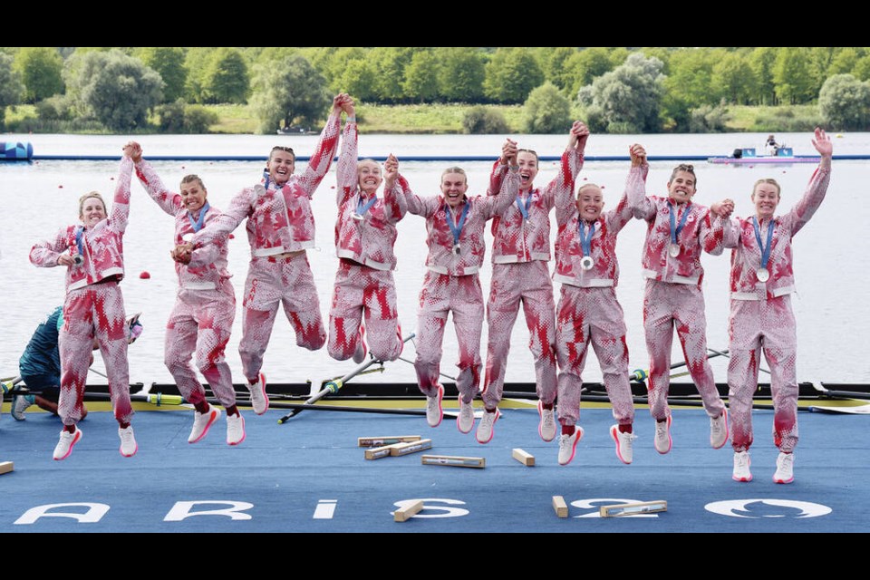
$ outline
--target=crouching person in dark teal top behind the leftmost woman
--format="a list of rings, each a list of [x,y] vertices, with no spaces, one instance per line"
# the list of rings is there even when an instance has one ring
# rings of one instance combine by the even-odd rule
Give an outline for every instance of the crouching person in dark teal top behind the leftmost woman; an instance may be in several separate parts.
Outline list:
[[[31,392],[27,394],[12,392],[10,410],[14,420],[26,420],[25,411],[31,405],[58,415],[57,401],[61,391],[61,353],[58,341],[62,327],[63,306],[58,306],[36,326],[33,336],[24,348],[24,353],[18,360],[18,375],[27,390]],[[128,330],[127,343],[132,344],[142,333],[142,324],[138,315],[128,319]],[[93,350],[99,348],[100,343],[95,340]],[[91,364],[93,364],[93,353]],[[82,407],[82,419],[87,415],[87,408]]]

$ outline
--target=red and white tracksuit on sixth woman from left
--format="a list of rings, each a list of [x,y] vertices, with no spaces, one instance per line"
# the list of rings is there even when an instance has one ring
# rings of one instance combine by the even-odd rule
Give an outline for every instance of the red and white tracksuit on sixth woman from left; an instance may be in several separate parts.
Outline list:
[[[504,170],[498,161],[489,178],[488,195],[501,189]],[[550,261],[550,209],[556,198],[571,197],[577,174],[583,169],[583,154],[565,150],[559,174],[544,191],[520,191],[501,215],[492,220],[492,283],[487,301],[487,372],[483,382],[483,401],[494,409],[505,387],[510,333],[523,305],[529,341],[535,357],[538,398],[545,404],[556,400],[556,304],[553,283],[546,263]],[[527,216],[517,204],[523,204]]]

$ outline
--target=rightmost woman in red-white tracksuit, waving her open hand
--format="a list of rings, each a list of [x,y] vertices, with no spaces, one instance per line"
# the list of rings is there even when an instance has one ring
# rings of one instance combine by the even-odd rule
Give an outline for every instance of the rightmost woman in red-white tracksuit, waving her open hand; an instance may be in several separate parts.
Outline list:
[[[731,249],[728,365],[732,478],[751,481],[752,395],[758,387],[761,353],[770,367],[773,442],[779,449],[773,480],[794,480],[797,446],[797,326],[791,307],[795,292],[792,238],[807,225],[825,199],[831,179],[833,144],[825,131],[813,139],[821,160],[803,197],[787,214],[776,216],[781,200],[775,179],[759,179],[752,189],[755,215],[730,218],[734,202],[710,207],[726,220],[724,245]]]

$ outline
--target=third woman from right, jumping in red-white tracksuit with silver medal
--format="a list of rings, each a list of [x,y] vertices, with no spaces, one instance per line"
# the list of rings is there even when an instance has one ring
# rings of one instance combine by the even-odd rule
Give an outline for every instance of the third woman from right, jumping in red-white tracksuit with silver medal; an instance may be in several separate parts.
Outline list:
[[[577,196],[569,192],[556,198],[556,282],[562,283],[556,306],[556,353],[559,359],[559,465],[574,459],[577,441],[583,437],[580,419],[583,369],[589,347],[601,365],[604,388],[613,406],[616,424],[610,436],[616,457],[633,461],[634,403],[629,384],[625,316],[616,299],[619,263],[616,237],[632,219],[629,192],[643,195],[650,166],[643,146],[629,148],[632,165],[622,198],[610,211],[604,210],[602,189],[585,183]]]

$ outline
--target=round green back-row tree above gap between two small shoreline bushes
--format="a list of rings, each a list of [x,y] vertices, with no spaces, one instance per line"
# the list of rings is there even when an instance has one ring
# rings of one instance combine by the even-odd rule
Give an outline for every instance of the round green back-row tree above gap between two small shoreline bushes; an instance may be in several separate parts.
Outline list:
[[[544,73],[531,51],[499,48],[486,66],[484,94],[497,102],[525,102],[528,93],[544,82]]]

